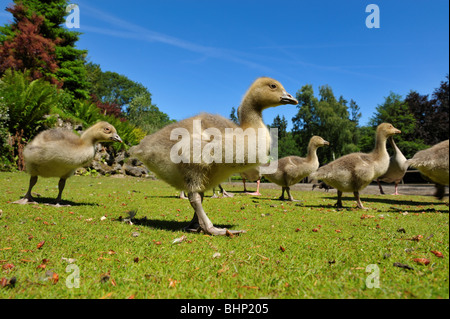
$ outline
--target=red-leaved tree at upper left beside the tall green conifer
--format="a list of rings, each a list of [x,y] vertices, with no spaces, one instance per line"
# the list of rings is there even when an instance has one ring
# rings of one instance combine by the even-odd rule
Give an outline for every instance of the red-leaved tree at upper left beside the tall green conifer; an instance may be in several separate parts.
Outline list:
[[[0,43],[0,76],[8,69],[29,70],[32,79],[45,78],[62,86],[54,75],[59,69],[55,54],[59,40],[42,35],[44,17],[33,13],[27,18],[23,5],[6,10],[13,14],[15,23],[11,26],[12,36]]]

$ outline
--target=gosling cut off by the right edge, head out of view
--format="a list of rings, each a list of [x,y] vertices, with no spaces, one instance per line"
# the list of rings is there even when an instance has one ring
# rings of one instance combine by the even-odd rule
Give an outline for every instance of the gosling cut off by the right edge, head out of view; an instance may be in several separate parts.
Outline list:
[[[430,148],[417,152],[407,164],[417,168],[421,174],[425,175],[436,183],[436,194],[438,199],[445,195],[445,185],[449,181],[449,142],[440,142]]]

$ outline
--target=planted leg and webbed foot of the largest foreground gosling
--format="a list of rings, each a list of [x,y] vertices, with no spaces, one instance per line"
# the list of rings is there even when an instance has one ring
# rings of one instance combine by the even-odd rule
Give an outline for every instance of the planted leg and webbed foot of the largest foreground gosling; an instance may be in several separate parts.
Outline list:
[[[192,218],[190,225],[188,226],[189,230],[192,226],[199,225],[198,231],[203,230],[204,233],[209,235],[227,235],[227,233],[238,234],[243,233],[242,230],[227,230],[225,228],[217,228],[213,225],[213,223],[209,220],[206,212],[203,210],[202,201],[203,201],[203,193],[198,192],[189,192],[188,193],[189,202],[191,203],[192,208],[194,208],[195,215]],[[195,229],[195,228],[194,228]],[[186,230],[186,229],[185,229]]]

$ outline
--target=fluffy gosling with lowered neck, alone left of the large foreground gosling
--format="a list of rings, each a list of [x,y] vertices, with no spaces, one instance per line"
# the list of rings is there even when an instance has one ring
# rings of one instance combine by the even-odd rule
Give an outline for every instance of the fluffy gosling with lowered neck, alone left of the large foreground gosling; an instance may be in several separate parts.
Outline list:
[[[95,155],[98,142],[122,142],[117,131],[107,122],[99,122],[88,128],[81,136],[70,130],[55,128],[39,133],[24,149],[26,170],[30,177],[24,198],[14,204],[34,204],[31,190],[41,177],[59,177],[58,197],[55,205],[61,206],[61,195],[66,180],[79,167],[89,164]]]

